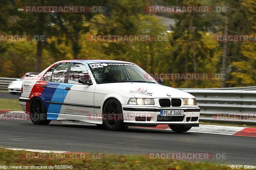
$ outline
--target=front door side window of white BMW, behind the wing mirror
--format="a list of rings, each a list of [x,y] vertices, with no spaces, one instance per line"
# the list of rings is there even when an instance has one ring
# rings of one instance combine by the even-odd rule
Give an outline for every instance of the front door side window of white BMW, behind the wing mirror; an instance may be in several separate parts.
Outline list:
[[[73,63],[68,75],[68,83],[80,84],[78,83],[79,78],[90,79],[88,71],[84,64]]]

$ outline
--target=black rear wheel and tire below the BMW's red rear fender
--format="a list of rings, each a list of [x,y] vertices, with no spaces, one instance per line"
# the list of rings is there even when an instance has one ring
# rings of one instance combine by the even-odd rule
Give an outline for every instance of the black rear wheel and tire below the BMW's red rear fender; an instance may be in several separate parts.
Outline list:
[[[47,111],[44,102],[40,98],[34,98],[29,105],[30,119],[37,125],[48,125],[51,120],[47,120]]]

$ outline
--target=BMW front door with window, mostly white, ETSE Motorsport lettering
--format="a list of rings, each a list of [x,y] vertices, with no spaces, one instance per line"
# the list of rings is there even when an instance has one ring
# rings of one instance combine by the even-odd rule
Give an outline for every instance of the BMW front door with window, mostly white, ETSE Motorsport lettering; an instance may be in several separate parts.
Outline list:
[[[94,116],[95,84],[78,83],[79,78],[90,78],[83,63],[72,63],[68,74],[68,81],[64,84],[64,111],[71,115]]]

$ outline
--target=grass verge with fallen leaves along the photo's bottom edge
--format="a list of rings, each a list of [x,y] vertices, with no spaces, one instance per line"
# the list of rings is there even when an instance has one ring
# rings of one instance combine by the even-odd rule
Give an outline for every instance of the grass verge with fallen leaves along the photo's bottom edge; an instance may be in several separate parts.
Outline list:
[[[0,149],[0,165],[5,166],[54,166],[72,165],[73,169],[168,169],[168,170],[228,170],[228,165],[210,162],[190,162],[181,160],[146,159],[144,155],[110,155],[103,154],[102,159],[72,160],[26,160],[21,157],[27,151]]]

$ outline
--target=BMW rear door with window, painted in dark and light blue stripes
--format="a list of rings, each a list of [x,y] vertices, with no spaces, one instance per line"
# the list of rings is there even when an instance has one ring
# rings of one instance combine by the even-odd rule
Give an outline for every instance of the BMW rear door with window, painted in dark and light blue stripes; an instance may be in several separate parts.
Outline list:
[[[64,82],[67,79],[69,65],[70,63],[58,63],[44,75],[44,81],[49,81],[42,85],[44,87],[42,95],[48,113],[64,112],[61,107],[64,100]]]

